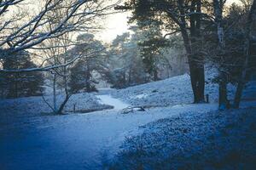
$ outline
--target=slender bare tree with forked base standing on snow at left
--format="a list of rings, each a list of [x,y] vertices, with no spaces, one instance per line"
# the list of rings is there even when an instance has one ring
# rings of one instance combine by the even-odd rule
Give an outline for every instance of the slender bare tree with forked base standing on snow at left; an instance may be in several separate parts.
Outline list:
[[[54,0],[57,1],[57,0]],[[65,17],[66,10],[63,7],[69,6],[72,0],[63,0],[63,3],[57,4],[56,9],[49,13],[47,16],[49,19],[49,25],[46,26],[46,31],[52,31],[55,26],[58,26],[61,19]],[[68,21],[69,25],[74,25],[75,19],[70,19]],[[68,82],[68,67],[67,59],[73,59],[67,52],[68,48],[73,46],[73,31],[66,32],[60,37],[53,37],[45,40],[41,43],[40,48],[44,49],[43,54],[47,56],[45,59],[49,65],[63,65],[61,67],[56,67],[50,71],[53,75],[53,106],[44,99],[44,101],[49,105],[49,107],[54,111],[55,114],[61,114],[68,99],[71,97],[69,93],[67,82]],[[56,89],[61,88],[64,90],[64,99],[60,99],[61,105],[57,105],[57,92]],[[44,98],[44,96],[43,96]]]

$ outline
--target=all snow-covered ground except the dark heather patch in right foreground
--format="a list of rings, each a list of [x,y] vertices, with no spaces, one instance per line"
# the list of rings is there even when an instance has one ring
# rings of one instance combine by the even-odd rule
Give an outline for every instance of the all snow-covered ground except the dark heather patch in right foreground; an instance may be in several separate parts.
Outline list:
[[[142,135],[150,128],[148,123],[173,121],[172,117],[188,116],[188,112],[189,116],[196,113],[195,119],[201,115],[207,118],[208,112],[216,112],[217,88],[207,85],[211,104],[201,105],[189,104],[192,91],[188,75],[118,91],[74,94],[67,112],[73,111],[73,105],[77,111],[109,109],[109,105],[113,109],[64,116],[44,114],[50,110],[41,97],[0,100],[0,169],[103,169],[119,153],[125,139]],[[249,89],[252,94],[255,88]],[[122,114],[130,105],[156,107]],[[252,98],[243,105],[255,107],[256,102]],[[193,126],[194,118],[188,126]]]

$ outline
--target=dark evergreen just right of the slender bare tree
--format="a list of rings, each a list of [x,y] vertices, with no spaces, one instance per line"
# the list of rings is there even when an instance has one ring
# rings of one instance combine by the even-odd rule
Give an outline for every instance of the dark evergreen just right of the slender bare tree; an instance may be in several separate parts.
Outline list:
[[[99,72],[102,68],[104,46],[102,42],[96,41],[92,34],[83,34],[77,38],[79,45],[71,51],[79,54],[81,57],[78,62],[70,69],[69,88],[72,93],[79,91],[93,92],[96,91],[96,83],[94,73]]]

